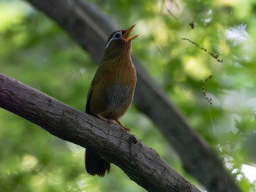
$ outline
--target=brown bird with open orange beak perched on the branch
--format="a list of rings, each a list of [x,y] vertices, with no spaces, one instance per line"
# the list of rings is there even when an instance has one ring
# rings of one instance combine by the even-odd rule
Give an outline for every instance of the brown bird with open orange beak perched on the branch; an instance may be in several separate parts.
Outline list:
[[[132,64],[132,39],[129,37],[135,25],[127,30],[113,32],[105,45],[105,53],[97,69],[87,95],[86,113],[108,123],[117,123],[132,103],[136,85],[136,71]],[[104,177],[110,172],[110,162],[91,149],[85,153],[86,171]]]

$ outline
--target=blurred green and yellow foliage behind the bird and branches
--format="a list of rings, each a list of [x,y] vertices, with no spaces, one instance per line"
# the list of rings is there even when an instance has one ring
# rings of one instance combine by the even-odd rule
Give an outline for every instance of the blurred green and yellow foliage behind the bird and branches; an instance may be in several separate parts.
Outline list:
[[[133,41],[133,53],[225,161],[241,188],[256,191],[256,2],[89,2],[120,28],[137,25],[133,34],[140,36]],[[84,111],[96,69],[88,53],[27,1],[0,0],[1,73]],[[203,189],[134,106],[121,122]],[[0,110],[0,191],[145,191],[113,164],[104,178],[89,176],[83,151]]]

